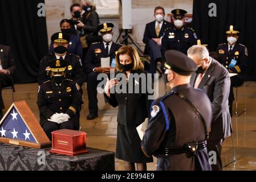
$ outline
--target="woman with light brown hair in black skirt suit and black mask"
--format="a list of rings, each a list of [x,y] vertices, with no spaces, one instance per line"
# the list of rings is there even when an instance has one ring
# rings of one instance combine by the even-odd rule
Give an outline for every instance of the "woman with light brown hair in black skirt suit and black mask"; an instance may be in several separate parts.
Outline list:
[[[136,163],[137,170],[144,171],[147,170],[146,163],[153,162],[153,158],[147,158],[143,154],[136,127],[150,117],[151,100],[147,91],[150,81],[147,80],[144,65],[133,47],[123,46],[119,49],[116,67],[115,79],[107,81],[104,94],[105,101],[111,106],[119,106],[116,158],[124,160],[125,170],[135,171]],[[151,78],[150,75],[148,77]],[[152,86],[152,83],[149,84]]]

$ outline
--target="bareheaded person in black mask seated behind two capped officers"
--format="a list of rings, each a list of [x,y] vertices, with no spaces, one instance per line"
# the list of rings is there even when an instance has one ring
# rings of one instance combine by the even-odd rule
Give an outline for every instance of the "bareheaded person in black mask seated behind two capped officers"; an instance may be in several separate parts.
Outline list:
[[[71,23],[68,19],[63,19],[60,22],[60,29],[64,34],[68,34],[70,36],[69,46],[68,46],[68,52],[79,56],[81,59],[83,57],[83,49],[82,44],[80,42],[80,39],[78,36],[71,33]],[[52,42],[50,45],[50,53],[54,53],[54,48],[52,46]]]

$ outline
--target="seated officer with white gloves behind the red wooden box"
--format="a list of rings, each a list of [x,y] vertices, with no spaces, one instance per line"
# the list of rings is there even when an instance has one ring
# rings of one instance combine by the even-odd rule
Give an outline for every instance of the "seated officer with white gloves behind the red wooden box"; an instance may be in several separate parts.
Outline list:
[[[38,90],[40,125],[51,140],[51,132],[59,129],[79,129],[79,111],[83,104],[80,86],[66,79],[66,60],[52,60],[51,80],[44,82]]]

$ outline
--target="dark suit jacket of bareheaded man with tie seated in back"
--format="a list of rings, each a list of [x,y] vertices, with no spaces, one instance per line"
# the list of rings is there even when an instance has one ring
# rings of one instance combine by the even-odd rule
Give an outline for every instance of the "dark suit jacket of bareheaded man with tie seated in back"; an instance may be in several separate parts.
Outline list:
[[[159,36],[156,36],[156,21],[153,21],[146,25],[144,36],[143,36],[143,42],[146,44],[145,51],[144,51],[145,55],[150,55],[150,48],[148,46],[149,40],[151,40],[152,38],[161,38],[161,36],[164,35],[164,30],[172,26],[173,26],[172,23],[164,20],[164,22],[162,23],[160,34]]]

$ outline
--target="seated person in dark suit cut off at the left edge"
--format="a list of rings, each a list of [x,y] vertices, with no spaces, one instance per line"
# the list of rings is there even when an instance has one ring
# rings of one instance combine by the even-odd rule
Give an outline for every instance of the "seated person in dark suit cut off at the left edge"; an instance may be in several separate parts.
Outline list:
[[[0,45],[0,119],[3,117],[2,109],[5,109],[2,98],[2,88],[11,86],[11,75],[15,70],[14,56],[9,46]]]

